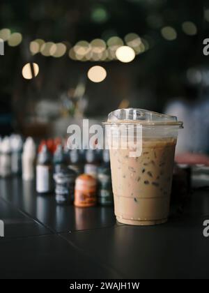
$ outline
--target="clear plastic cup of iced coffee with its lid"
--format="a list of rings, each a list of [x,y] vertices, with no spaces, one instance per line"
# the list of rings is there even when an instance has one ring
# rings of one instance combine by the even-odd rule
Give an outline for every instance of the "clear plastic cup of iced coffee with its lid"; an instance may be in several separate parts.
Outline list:
[[[118,222],[167,222],[176,142],[183,122],[147,110],[122,109],[111,112],[104,126]]]

